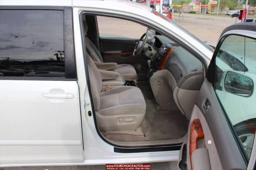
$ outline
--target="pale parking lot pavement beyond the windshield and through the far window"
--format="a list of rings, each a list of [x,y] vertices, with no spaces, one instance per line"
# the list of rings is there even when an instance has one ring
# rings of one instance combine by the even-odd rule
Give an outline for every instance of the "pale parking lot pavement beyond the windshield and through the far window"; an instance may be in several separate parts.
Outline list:
[[[179,13],[172,14],[172,20],[200,40],[216,45],[221,32],[228,26],[241,22],[231,16]],[[140,38],[146,27],[116,18],[98,17],[100,34],[126,38]],[[117,26],[118,25],[118,26]]]

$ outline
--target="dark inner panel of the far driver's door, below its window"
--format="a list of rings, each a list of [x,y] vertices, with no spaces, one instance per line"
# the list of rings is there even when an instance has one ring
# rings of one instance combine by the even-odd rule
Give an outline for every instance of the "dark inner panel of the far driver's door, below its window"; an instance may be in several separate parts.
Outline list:
[[[144,61],[143,57],[133,57],[133,50],[138,39],[101,37],[100,45],[104,62],[134,64]]]

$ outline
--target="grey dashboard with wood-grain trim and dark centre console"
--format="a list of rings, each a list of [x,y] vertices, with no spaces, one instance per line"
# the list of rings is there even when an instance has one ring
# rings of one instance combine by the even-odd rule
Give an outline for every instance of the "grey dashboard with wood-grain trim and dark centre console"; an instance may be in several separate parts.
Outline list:
[[[149,78],[157,71],[167,69],[180,87],[188,77],[202,74],[200,60],[165,36],[155,35],[150,40],[145,55],[151,60],[148,69]]]

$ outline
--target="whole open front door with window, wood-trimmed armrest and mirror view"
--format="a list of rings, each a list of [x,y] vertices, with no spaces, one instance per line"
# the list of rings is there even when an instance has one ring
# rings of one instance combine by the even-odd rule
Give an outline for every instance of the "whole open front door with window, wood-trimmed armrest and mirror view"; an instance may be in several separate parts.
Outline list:
[[[190,117],[187,164],[180,168],[246,169],[251,155],[255,155],[252,153],[256,130],[253,29],[255,24],[236,24],[222,33]]]

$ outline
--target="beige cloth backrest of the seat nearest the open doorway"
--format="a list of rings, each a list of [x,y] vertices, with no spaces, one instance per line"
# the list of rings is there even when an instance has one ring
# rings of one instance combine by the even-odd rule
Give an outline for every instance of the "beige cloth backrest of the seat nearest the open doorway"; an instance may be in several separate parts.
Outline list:
[[[94,61],[91,59],[88,53],[86,53],[86,58],[88,62],[89,79],[90,79],[94,109],[98,111],[100,110],[100,92],[102,89],[102,77]]]

